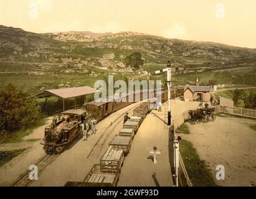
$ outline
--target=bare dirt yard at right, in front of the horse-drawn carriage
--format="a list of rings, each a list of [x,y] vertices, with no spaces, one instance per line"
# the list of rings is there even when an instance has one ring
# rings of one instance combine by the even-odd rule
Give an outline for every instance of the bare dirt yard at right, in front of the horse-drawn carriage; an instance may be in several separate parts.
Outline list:
[[[213,123],[189,125],[191,134],[183,139],[192,142],[202,160],[209,164],[214,179],[217,165],[224,165],[222,186],[256,185],[256,131],[252,119],[217,117]]]

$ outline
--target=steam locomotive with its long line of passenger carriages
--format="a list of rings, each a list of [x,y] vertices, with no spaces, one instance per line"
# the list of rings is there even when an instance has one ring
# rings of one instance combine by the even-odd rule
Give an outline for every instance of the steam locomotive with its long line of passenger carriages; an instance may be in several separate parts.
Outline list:
[[[148,92],[148,96],[151,95],[149,92],[154,92],[155,98],[158,98],[156,91],[141,91],[140,93],[128,93],[120,96],[119,98],[112,97],[111,100],[107,100],[106,102],[99,103],[91,101],[84,104],[83,109],[72,109],[65,111],[64,113],[60,113],[57,118],[52,120],[52,123],[49,126],[45,127],[44,139],[42,139],[40,144],[44,146],[44,150],[47,154],[59,154],[64,150],[65,146],[82,134],[82,127],[80,124],[84,122],[89,124],[93,118],[100,121],[111,113],[125,108],[132,104],[132,102],[128,102],[131,95],[133,95],[133,99],[135,99],[136,96],[137,98],[140,96],[140,100],[142,101],[143,94],[145,94],[145,92]],[[183,88],[179,88],[175,91],[172,90],[171,98],[173,99],[174,97],[183,96],[183,92]],[[162,102],[166,101],[167,98],[168,93],[163,90],[161,92]]]

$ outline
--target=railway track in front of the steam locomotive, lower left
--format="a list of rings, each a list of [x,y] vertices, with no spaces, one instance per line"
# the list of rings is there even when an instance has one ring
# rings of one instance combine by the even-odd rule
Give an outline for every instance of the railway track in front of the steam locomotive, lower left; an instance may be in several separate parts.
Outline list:
[[[38,169],[38,176],[42,174],[44,171],[45,167],[47,165],[51,164],[54,162],[54,160],[59,156],[60,154],[48,154],[42,157],[36,164],[37,169]],[[28,187],[33,180],[29,178],[31,170],[27,170],[24,174],[19,177],[19,179],[12,185],[12,187]]]

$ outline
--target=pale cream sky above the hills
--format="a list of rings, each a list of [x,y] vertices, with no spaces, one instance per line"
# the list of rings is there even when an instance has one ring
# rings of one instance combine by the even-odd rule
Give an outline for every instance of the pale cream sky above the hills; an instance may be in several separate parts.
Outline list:
[[[37,33],[133,31],[256,48],[256,0],[0,0],[0,24]]]

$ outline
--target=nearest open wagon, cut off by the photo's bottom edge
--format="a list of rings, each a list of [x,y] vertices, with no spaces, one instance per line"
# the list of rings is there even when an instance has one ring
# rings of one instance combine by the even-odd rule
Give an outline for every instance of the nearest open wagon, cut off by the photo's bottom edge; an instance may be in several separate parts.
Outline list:
[[[116,187],[120,173],[103,173],[100,167],[94,165],[83,182],[67,182],[64,187]]]

